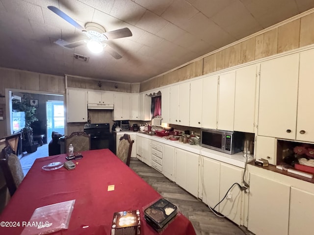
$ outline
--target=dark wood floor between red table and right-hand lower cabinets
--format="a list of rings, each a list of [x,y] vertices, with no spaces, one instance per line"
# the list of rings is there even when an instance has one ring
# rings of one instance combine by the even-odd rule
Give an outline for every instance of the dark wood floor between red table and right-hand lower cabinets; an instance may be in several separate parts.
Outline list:
[[[154,168],[137,159],[131,159],[130,167],[165,199],[178,207],[178,210],[192,222],[197,235],[254,235],[245,227],[239,227],[227,218],[214,215],[202,201]]]

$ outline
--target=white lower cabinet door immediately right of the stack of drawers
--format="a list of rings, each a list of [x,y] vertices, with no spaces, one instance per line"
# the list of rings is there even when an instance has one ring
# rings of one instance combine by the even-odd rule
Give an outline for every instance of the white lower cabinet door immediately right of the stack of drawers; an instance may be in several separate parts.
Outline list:
[[[162,156],[162,174],[171,181],[175,180],[174,167],[175,167],[175,148],[173,146],[164,144]]]

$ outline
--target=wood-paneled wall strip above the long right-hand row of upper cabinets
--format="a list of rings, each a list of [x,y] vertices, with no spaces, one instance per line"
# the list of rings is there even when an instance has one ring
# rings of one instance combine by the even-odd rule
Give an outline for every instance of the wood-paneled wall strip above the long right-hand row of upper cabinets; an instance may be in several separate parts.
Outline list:
[[[282,24],[260,35],[221,49],[183,68],[142,82],[148,91],[200,75],[220,71],[295,48],[314,44],[314,13]]]

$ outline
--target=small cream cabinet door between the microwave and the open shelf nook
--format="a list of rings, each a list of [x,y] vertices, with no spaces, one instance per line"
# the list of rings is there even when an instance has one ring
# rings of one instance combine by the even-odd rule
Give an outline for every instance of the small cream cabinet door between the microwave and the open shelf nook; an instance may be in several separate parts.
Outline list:
[[[276,146],[277,140],[273,137],[257,136],[255,159],[266,159],[269,164],[276,165]]]

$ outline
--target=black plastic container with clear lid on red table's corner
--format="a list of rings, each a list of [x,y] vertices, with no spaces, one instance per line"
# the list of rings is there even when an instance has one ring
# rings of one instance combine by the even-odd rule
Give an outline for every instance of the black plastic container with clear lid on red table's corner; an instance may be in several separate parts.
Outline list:
[[[144,218],[155,230],[162,230],[177,214],[177,207],[166,199],[159,199],[145,209]]]

